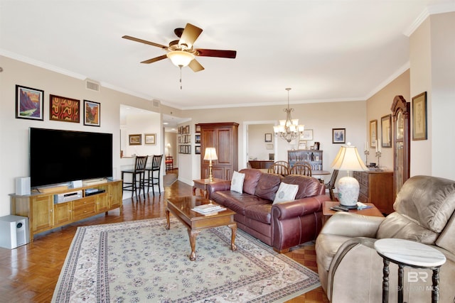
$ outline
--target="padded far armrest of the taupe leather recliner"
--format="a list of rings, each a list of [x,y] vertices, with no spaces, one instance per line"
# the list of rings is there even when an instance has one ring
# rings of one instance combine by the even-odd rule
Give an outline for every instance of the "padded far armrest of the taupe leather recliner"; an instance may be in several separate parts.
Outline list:
[[[337,212],[324,224],[321,233],[337,236],[375,238],[378,228],[385,218]]]

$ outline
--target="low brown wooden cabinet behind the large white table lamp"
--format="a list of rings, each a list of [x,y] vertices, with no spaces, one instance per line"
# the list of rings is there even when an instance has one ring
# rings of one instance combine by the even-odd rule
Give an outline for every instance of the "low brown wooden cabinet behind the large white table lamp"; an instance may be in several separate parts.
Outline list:
[[[375,204],[382,214],[393,212],[393,172],[391,170],[353,172],[353,177],[360,185],[358,201]]]

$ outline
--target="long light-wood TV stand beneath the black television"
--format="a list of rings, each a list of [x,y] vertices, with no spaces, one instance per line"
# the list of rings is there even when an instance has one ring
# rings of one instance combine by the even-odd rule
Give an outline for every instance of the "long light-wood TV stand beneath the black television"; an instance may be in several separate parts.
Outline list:
[[[85,189],[96,188],[105,192],[85,195]],[[82,198],[54,204],[54,194],[82,190]],[[122,180],[78,188],[60,189],[55,192],[33,191],[30,195],[11,194],[11,214],[27,216],[30,239],[36,233],[95,216],[112,209],[122,211]]]

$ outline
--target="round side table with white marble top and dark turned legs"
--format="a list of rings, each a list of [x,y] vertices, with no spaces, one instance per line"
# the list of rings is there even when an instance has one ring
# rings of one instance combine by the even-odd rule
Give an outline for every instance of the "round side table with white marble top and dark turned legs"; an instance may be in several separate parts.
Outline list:
[[[403,302],[403,268],[428,268],[433,270],[432,303],[439,302],[439,269],[446,256],[436,248],[422,243],[387,238],[375,242],[375,250],[382,257],[382,303],[389,302],[389,263],[398,265],[398,302]]]

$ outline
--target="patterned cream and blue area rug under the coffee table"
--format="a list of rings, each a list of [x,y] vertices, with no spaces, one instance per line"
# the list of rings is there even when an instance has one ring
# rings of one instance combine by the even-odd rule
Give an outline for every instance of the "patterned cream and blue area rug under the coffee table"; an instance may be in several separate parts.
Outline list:
[[[171,217],[81,226],[52,302],[284,302],[319,287],[318,275],[237,229],[201,231],[196,261]]]

